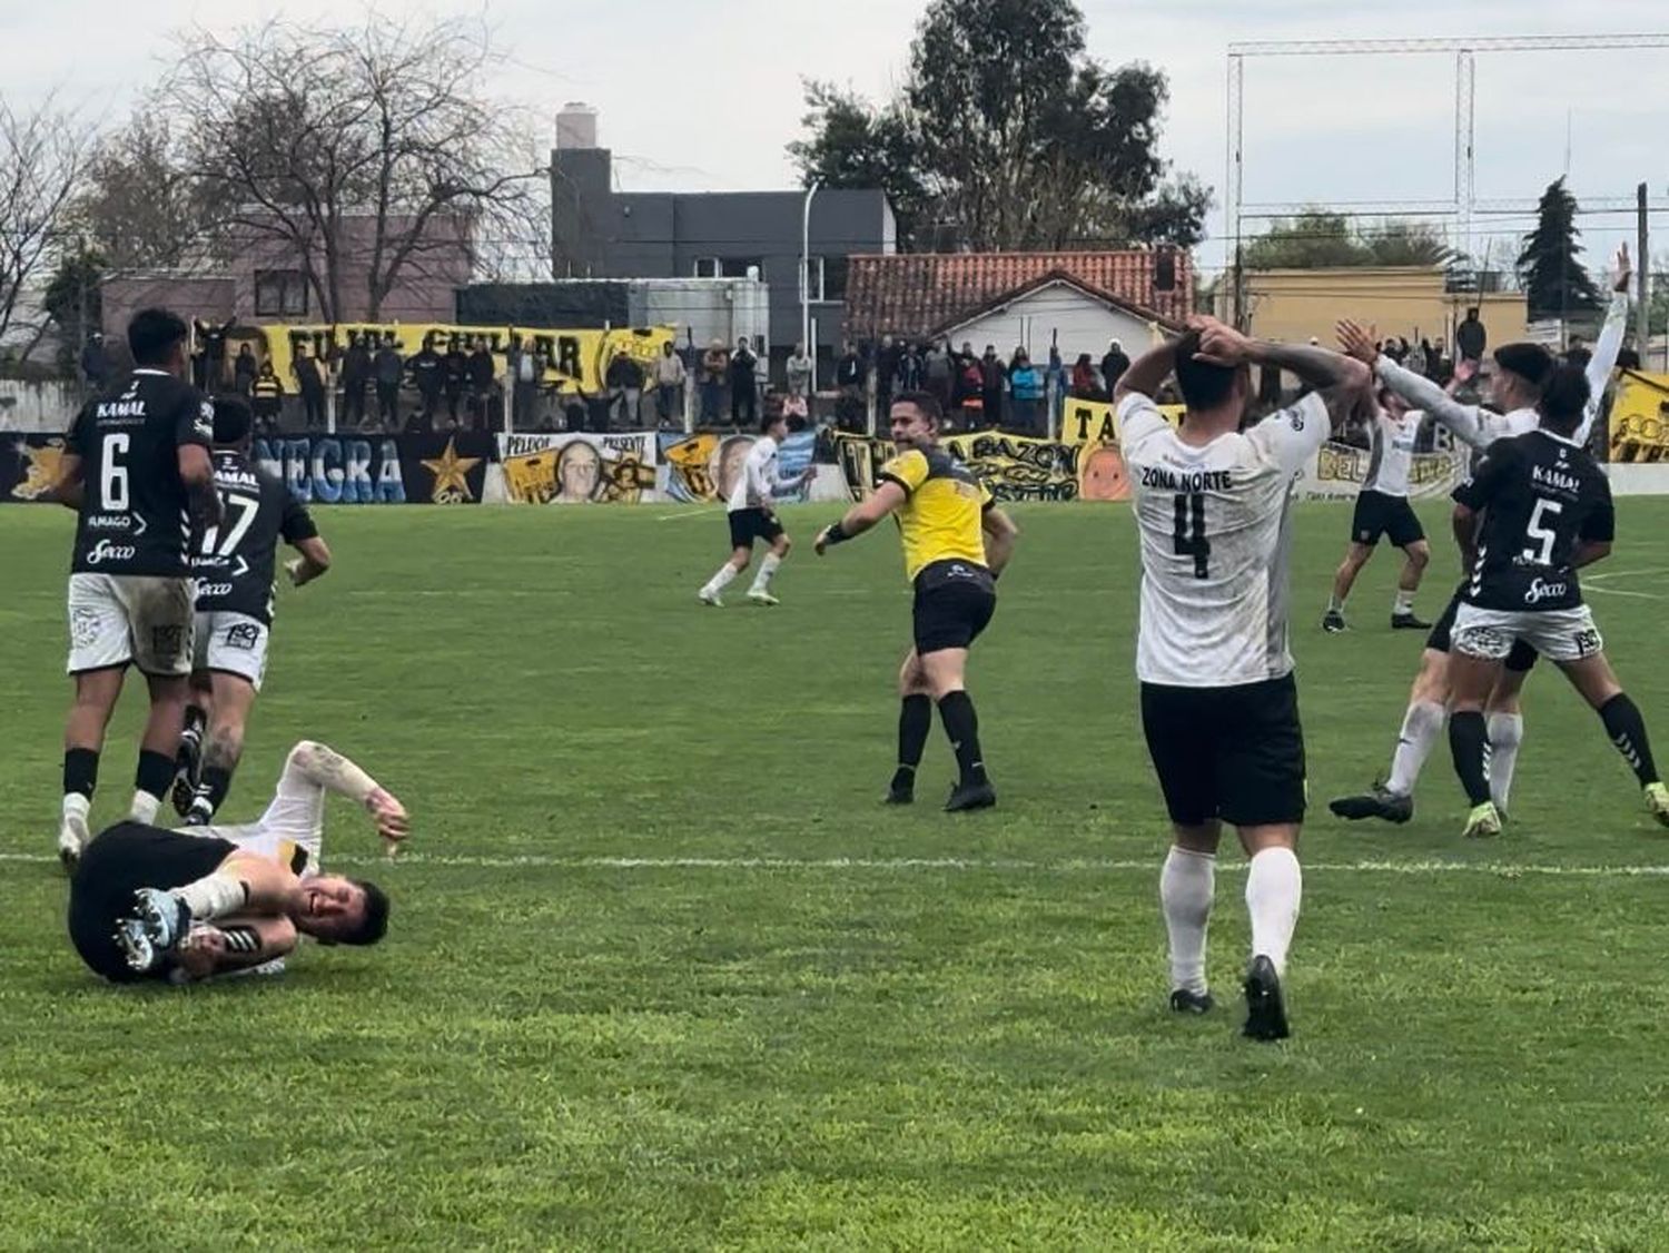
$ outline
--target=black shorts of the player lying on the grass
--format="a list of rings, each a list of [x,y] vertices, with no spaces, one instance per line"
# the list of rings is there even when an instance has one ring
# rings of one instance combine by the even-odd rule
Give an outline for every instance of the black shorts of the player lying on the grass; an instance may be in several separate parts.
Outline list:
[[[144,823],[117,823],[83,851],[70,881],[70,943],[93,974],[112,983],[160,978],[135,974],[115,943],[115,928],[134,913],[140,888],[182,888],[212,874],[234,853],[224,839],[164,831]]]

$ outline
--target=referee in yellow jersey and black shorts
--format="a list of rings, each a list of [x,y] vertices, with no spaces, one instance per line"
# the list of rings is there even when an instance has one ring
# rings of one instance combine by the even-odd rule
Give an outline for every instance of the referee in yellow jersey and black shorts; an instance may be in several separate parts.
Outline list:
[[[938,704],[945,734],[956,751],[961,777],[945,809],[985,809],[996,793],[980,754],[980,719],[965,687],[968,646],[996,612],[996,576],[1020,534],[995,507],[973,472],[938,445],[943,420],[931,392],[905,392],[891,410],[898,455],[881,467],[881,484],[846,517],[824,527],[813,547],[818,556],[856,539],[888,514],[898,516],[905,572],[916,589],[915,647],[898,672],[898,772],[888,804],[915,799],[916,766]],[[930,704],[930,701],[933,704]]]

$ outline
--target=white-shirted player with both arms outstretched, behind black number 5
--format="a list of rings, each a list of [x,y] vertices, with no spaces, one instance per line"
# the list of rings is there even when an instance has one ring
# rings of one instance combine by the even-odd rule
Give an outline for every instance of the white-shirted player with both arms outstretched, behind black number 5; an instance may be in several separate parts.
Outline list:
[[[1629,317],[1629,250],[1617,249],[1612,269],[1612,300],[1606,325],[1594,355],[1587,364],[1589,402],[1582,422],[1572,435],[1577,445],[1587,444],[1599,417],[1601,397],[1611,380],[1622,347],[1622,332]],[[1449,427],[1455,439],[1482,452],[1497,439],[1524,435],[1540,425],[1535,405],[1554,372],[1552,355],[1539,344],[1507,344],[1495,352],[1495,375],[1490,380],[1490,400],[1500,412],[1467,405],[1445,395],[1444,390],[1412,370],[1382,355],[1374,345],[1372,327],[1354,322],[1339,324],[1339,342],[1345,352],[1374,367],[1379,380],[1412,405],[1425,409],[1437,422]],[[1330,808],[1339,818],[1352,821],[1380,818],[1387,823],[1407,823],[1414,818],[1414,784],[1420,777],[1425,757],[1444,734],[1449,709],[1449,644],[1455,614],[1460,609],[1460,591],[1455,589],[1449,607],[1437,619],[1420,654],[1420,671],[1414,676],[1409,707],[1402,717],[1402,734],[1392,756],[1390,776],[1384,784],[1360,796],[1340,796]],[[1535,649],[1520,639],[1495,681],[1485,704],[1485,724],[1490,744],[1490,791],[1497,811],[1505,813],[1512,794],[1512,772],[1524,741],[1524,714],[1520,694],[1524,681],[1535,666]]]

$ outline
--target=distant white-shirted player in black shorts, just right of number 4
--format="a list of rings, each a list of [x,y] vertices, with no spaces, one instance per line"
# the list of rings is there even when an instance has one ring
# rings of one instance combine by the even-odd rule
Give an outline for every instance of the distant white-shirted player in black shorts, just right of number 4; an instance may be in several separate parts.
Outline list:
[[[1370,402],[1367,474],[1350,519],[1350,547],[1334,574],[1334,597],[1322,616],[1322,629],[1329,632],[1345,629],[1345,601],[1379,547],[1380,536],[1402,549],[1405,557],[1397,579],[1397,601],[1390,609],[1390,629],[1429,631],[1432,626],[1414,614],[1414,594],[1432,559],[1432,546],[1425,542],[1425,527],[1409,504],[1414,439],[1420,434],[1424,417],[1424,412],[1409,409],[1389,387],[1380,389]]]

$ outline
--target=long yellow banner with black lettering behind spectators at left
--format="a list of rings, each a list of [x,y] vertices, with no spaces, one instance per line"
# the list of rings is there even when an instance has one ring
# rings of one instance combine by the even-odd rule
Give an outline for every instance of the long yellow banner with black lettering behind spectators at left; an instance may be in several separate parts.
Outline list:
[[[265,359],[285,389],[295,387],[290,372],[297,355],[322,359],[330,349],[347,350],[350,335],[371,335],[376,352],[384,337],[394,335],[399,354],[407,360],[424,344],[446,355],[456,344],[469,352],[486,340],[494,357],[494,372],[506,379],[512,345],[532,345],[546,359],[544,387],[559,392],[598,394],[604,390],[603,379],[616,357],[633,357],[644,367],[644,380],[651,382],[651,367],[661,355],[661,345],[676,342],[673,327],[633,327],[623,330],[551,330],[541,327],[459,327],[439,322],[335,322],[332,325],[265,325],[257,327],[265,339]]]

